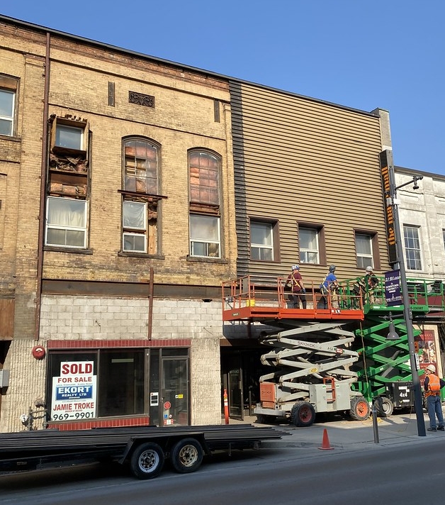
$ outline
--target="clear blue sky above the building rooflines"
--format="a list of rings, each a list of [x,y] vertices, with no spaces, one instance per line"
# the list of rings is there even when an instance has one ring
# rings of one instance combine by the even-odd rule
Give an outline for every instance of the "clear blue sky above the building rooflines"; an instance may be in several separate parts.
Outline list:
[[[16,0],[0,13],[354,109],[387,109],[395,165],[445,175],[443,0]]]

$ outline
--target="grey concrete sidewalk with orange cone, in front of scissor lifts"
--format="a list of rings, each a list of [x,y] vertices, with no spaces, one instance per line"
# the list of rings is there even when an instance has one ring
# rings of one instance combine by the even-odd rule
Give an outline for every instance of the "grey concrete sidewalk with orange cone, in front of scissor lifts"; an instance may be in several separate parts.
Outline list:
[[[424,414],[425,429],[429,426],[427,414]],[[426,436],[418,435],[417,418],[412,414],[396,414],[388,418],[377,418],[376,433],[373,420],[350,421],[327,421],[315,423],[307,428],[297,428],[291,423],[274,423],[264,425],[257,423],[256,416],[245,417],[244,421],[230,420],[232,423],[249,423],[254,426],[273,426],[278,431],[285,431],[290,435],[284,435],[280,440],[265,440],[261,443],[264,448],[306,448],[319,450],[323,442],[325,446],[339,450],[356,450],[364,447],[394,445],[398,443],[416,443],[430,437],[445,438],[445,432],[432,433],[427,431]],[[326,430],[326,434],[325,434]],[[328,443],[326,444],[326,436]]]

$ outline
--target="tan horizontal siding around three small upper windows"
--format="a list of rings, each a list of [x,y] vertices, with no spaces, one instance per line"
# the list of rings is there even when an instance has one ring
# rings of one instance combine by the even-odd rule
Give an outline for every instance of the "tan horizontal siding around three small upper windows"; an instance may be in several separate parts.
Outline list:
[[[239,273],[285,274],[298,262],[297,223],[325,227],[327,264],[355,277],[354,229],[378,234],[388,270],[376,116],[251,84],[232,86]],[[249,218],[279,221],[281,262],[249,261]],[[305,265],[318,279],[325,266]]]

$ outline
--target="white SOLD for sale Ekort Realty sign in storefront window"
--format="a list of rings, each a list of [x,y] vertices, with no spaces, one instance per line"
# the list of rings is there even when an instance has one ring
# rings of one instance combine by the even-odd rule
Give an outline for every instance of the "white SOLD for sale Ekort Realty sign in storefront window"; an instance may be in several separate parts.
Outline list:
[[[96,417],[96,375],[92,361],[60,363],[52,377],[51,421],[80,421]]]

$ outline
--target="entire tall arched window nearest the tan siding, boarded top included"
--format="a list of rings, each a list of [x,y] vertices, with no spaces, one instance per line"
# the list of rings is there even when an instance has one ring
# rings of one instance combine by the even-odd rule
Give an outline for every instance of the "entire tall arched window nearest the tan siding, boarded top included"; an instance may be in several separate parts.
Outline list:
[[[213,152],[188,152],[192,257],[221,257],[220,170],[221,158]]]

